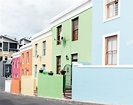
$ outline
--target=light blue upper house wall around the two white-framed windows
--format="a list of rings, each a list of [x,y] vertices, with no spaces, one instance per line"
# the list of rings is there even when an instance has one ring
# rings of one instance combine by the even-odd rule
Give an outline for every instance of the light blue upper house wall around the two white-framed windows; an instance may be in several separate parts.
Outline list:
[[[120,17],[103,22],[103,0],[93,0],[92,64],[102,64],[103,35],[120,31],[119,64],[133,64],[133,1],[120,1]],[[132,41],[130,45],[127,45]]]

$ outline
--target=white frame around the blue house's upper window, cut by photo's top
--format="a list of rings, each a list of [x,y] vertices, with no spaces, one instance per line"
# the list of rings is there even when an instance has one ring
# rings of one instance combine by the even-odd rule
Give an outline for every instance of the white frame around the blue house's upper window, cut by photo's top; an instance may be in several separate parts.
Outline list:
[[[120,17],[121,0],[118,3],[118,15],[111,18],[106,18],[106,0],[103,0],[103,22],[111,21]]]

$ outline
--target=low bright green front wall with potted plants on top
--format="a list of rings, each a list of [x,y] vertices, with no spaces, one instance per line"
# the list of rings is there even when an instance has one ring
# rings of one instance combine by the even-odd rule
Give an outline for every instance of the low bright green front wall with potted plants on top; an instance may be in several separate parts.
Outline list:
[[[63,76],[38,74],[38,96],[62,98]]]

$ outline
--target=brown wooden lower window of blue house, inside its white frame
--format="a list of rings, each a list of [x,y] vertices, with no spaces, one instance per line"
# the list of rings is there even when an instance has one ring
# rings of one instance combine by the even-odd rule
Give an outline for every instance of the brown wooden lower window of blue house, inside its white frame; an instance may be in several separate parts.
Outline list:
[[[105,39],[105,64],[117,64],[117,35],[106,37]]]

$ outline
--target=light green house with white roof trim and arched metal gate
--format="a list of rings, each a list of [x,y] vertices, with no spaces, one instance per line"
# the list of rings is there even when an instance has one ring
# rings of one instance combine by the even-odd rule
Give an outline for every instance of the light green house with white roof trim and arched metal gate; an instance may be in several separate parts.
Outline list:
[[[72,62],[91,63],[92,2],[86,0],[51,20],[52,70],[63,78],[62,98],[72,98]]]

